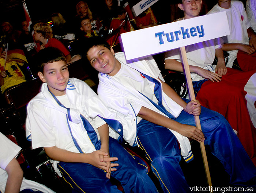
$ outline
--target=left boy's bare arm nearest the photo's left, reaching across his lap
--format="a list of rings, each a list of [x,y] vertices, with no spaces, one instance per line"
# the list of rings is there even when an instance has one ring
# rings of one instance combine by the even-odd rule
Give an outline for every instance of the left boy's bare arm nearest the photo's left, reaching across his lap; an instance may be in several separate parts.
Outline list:
[[[62,162],[79,162],[79,163],[89,163],[95,167],[98,167],[102,170],[107,170],[107,163],[111,161],[116,161],[118,158],[104,158],[105,162],[101,162],[99,159],[99,155],[103,154],[108,156],[107,152],[104,151],[93,151],[89,154],[80,154],[74,153],[71,151],[63,150],[56,146],[53,147],[44,147],[45,153],[52,159]],[[117,163],[111,163],[111,167],[118,166]],[[116,169],[111,168],[111,171],[115,171]]]

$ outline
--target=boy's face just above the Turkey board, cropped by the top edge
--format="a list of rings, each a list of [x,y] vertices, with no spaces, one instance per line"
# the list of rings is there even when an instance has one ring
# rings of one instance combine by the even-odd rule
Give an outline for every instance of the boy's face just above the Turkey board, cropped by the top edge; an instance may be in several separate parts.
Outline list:
[[[182,4],[178,7],[184,11],[185,19],[195,18],[199,16],[202,0],[182,0]]]

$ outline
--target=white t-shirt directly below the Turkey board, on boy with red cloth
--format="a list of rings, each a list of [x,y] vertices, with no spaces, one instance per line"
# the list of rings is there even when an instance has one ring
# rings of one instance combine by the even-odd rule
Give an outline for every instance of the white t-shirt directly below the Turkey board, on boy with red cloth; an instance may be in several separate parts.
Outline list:
[[[215,72],[216,65],[211,65],[215,58],[215,49],[221,47],[218,39],[212,39],[205,42],[199,42],[193,45],[185,46],[188,65],[198,66],[211,72]],[[216,44],[216,46],[215,46]],[[180,49],[170,50],[165,53],[166,59],[176,59],[181,62]],[[191,73],[193,81],[203,80],[204,78],[196,73]]]

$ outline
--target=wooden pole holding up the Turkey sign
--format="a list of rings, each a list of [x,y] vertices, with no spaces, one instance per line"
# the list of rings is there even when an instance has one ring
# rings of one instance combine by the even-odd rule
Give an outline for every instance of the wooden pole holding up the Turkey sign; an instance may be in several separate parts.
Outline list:
[[[192,85],[192,80],[191,80],[191,76],[190,76],[190,70],[189,70],[189,66],[188,66],[188,59],[187,59],[185,47],[184,46],[180,47],[180,51],[181,51],[181,57],[182,57],[182,61],[183,61],[184,73],[185,73],[187,85],[188,85],[189,97],[190,97],[190,100],[196,100],[193,85]],[[196,127],[202,131],[199,116],[194,116],[194,117],[195,117]],[[203,142],[200,142],[200,148],[201,148],[201,153],[203,156],[204,170],[206,172],[207,182],[208,182],[208,185],[211,187],[212,184],[211,184],[210,170],[209,170],[208,161],[207,161],[207,157],[206,157],[206,151],[205,151]]]

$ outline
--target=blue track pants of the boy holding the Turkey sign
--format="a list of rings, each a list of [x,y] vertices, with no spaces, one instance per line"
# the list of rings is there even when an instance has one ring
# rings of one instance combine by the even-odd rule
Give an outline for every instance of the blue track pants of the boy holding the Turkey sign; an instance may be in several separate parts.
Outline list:
[[[219,113],[202,107],[200,117],[205,144],[230,175],[230,183],[245,185],[255,183],[256,168],[246,154],[227,120]],[[195,126],[193,115],[182,111],[175,119],[179,123]],[[165,193],[190,192],[179,165],[181,160],[177,139],[171,131],[146,120],[138,123],[138,143],[146,151],[152,170],[159,178]],[[193,150],[192,150],[193,151]],[[253,182],[254,181],[254,182]]]

